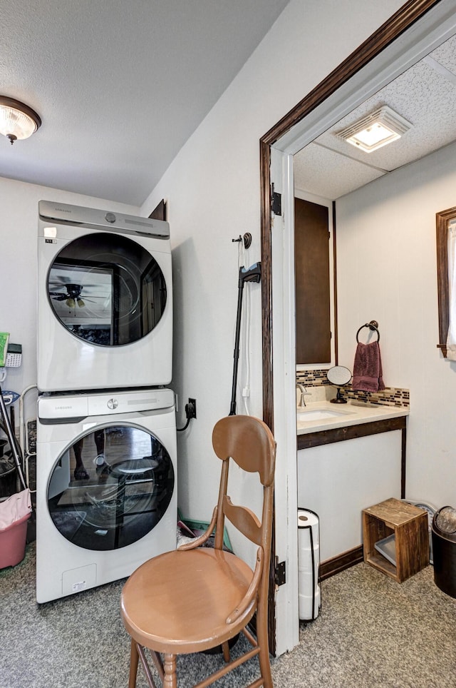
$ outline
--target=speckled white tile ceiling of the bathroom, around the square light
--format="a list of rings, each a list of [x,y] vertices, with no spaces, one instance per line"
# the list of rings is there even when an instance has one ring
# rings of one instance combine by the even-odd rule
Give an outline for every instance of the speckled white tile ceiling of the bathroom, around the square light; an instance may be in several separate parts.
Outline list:
[[[388,146],[365,153],[337,133],[388,105],[412,128]],[[295,186],[336,200],[456,139],[456,38],[368,98],[294,156]]]

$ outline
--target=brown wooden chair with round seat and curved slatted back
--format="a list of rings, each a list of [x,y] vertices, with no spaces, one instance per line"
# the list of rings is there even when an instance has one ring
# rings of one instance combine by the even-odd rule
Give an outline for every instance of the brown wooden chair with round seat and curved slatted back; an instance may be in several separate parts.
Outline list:
[[[274,496],[275,442],[258,418],[222,418],[212,432],[214,452],[222,459],[219,500],[207,532],[177,550],[145,562],[122,592],[121,613],[131,637],[130,682],[136,685],[138,659],[147,682],[156,688],[144,648],[150,650],[162,685],[177,688],[176,656],[222,646],[225,664],[199,682],[204,688],[240,664],[259,656],[261,677],[249,688],[272,688],[269,666],[267,606]],[[227,496],[230,457],[248,472],[258,472],[263,485],[261,523],[252,510]],[[255,569],[223,549],[225,517],[257,545]],[[214,548],[200,547],[215,528]],[[257,612],[256,635],[247,628]],[[242,632],[252,644],[235,660],[229,640]],[[161,657],[163,655],[163,657]]]

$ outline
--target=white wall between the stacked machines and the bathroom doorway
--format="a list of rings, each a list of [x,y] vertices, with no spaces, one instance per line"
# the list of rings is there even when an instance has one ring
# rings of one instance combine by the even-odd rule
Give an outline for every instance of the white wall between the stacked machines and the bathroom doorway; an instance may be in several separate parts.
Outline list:
[[[232,238],[252,233],[246,262],[261,258],[259,138],[400,5],[394,0],[291,0],[142,206],[147,215],[160,198],[167,201],[175,279],[173,384],[181,406],[189,396],[197,399],[197,420],[178,435],[184,515],[207,520],[214,502],[219,467],[211,461],[211,432],[229,413],[231,397],[237,305]],[[343,31],[347,16],[356,21]],[[260,285],[247,288],[252,296],[249,402],[261,417]]]

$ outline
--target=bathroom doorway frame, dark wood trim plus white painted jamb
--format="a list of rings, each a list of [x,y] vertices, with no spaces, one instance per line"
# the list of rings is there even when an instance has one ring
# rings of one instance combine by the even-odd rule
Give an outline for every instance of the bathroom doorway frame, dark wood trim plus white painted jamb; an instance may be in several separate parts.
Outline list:
[[[260,139],[263,419],[277,442],[270,649],[299,642],[293,156],[454,33],[454,3],[409,0]],[[274,353],[274,355],[273,355]]]

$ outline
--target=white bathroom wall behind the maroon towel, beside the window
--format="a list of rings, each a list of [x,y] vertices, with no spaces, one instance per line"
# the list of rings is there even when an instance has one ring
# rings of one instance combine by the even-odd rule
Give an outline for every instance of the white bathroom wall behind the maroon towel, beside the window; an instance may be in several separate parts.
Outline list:
[[[336,203],[339,363],[353,370],[356,331],[378,320],[385,385],[410,389],[406,496],[437,507],[456,503],[456,363],[436,347],[435,246],[455,156],[447,146]]]

